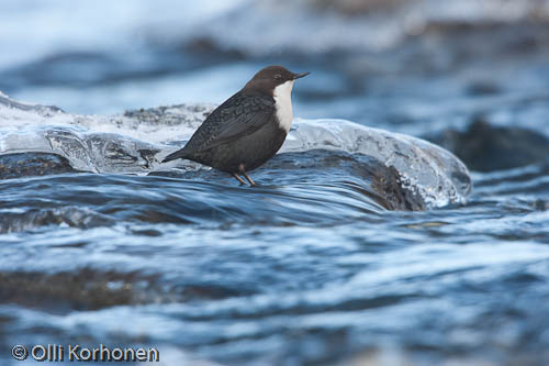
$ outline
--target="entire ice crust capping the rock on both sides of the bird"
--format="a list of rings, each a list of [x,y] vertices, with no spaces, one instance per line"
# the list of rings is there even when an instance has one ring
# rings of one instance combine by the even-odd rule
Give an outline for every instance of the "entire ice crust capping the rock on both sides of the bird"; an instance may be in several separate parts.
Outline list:
[[[209,104],[181,104],[116,115],[77,115],[56,107],[14,101],[0,93],[0,154],[43,152],[66,157],[78,170],[148,174],[187,160],[159,162],[181,147]],[[467,167],[426,141],[344,120],[296,119],[280,153],[344,151],[372,156],[399,171],[404,188],[430,207],[464,202],[471,191]]]

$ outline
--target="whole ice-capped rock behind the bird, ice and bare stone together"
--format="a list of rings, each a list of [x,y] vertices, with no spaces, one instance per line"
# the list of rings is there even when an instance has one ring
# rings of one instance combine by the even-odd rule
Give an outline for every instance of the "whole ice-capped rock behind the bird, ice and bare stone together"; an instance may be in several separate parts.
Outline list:
[[[0,93],[0,156],[5,162],[0,178],[76,170],[164,175],[173,168],[176,176],[184,168],[184,177],[206,177],[212,174],[210,168],[193,162],[159,162],[184,144],[212,109],[181,104],[111,117],[77,115],[16,102]],[[321,158],[313,151],[324,151],[324,155]],[[280,151],[281,158],[292,156],[283,153],[294,154],[294,164],[305,164],[310,175],[322,176],[323,169],[338,162],[337,169],[360,177],[367,190],[381,198],[378,203],[389,210],[461,203],[471,191],[467,167],[449,152],[419,138],[348,121],[296,120]],[[343,164],[343,156],[350,156],[355,168]],[[261,175],[270,170],[282,171],[271,182],[306,178],[294,177],[289,165],[277,167],[277,162],[254,171],[260,182]]]

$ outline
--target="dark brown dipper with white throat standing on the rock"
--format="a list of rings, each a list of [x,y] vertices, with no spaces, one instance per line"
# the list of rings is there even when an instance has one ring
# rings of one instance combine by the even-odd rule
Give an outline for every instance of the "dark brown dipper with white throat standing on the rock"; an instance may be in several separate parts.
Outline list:
[[[258,71],[243,89],[217,107],[183,148],[163,163],[183,158],[231,173],[243,185],[243,175],[270,159],[292,126],[293,82],[310,73],[294,74],[282,66]]]

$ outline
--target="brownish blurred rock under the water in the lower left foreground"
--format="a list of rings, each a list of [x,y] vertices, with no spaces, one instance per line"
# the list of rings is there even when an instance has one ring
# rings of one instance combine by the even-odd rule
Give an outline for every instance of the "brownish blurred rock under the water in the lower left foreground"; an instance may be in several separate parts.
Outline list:
[[[81,268],[55,274],[0,273],[0,304],[16,303],[57,313],[124,304],[184,302],[249,295],[213,284],[163,284],[157,275]],[[1,319],[0,319],[1,322]]]

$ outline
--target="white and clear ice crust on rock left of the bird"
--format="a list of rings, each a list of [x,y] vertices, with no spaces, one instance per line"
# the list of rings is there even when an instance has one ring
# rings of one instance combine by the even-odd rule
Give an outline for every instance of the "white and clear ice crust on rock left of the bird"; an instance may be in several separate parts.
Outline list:
[[[189,136],[211,110],[176,106],[112,117],[78,115],[0,95],[0,154],[55,153],[78,170],[147,174],[155,155],[165,149],[159,143]]]

